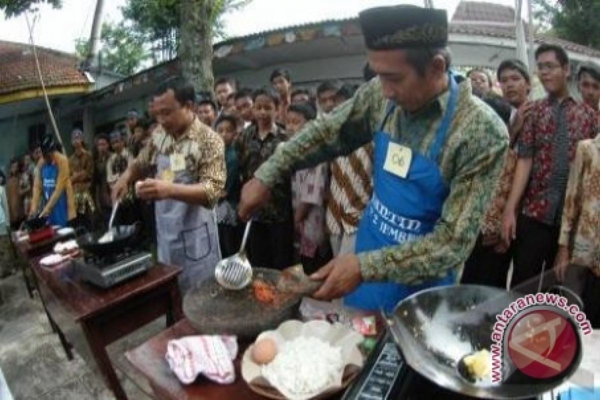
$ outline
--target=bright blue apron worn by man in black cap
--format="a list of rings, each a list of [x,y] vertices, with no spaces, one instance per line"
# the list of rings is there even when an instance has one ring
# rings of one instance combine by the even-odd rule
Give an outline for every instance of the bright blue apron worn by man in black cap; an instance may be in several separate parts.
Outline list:
[[[356,252],[378,250],[397,246],[433,231],[440,218],[449,188],[438,167],[440,152],[452,122],[458,98],[458,85],[449,76],[450,95],[442,123],[437,128],[427,156],[412,152],[406,178],[401,178],[383,168],[390,143],[390,134],[383,128],[395,105],[386,110],[379,131],[374,136],[374,190],[365,208],[356,233]],[[401,268],[399,265],[398,268]],[[421,285],[403,285],[395,282],[364,282],[344,298],[344,304],[359,309],[391,312],[400,300],[419,290],[455,283],[454,272],[443,279]]]

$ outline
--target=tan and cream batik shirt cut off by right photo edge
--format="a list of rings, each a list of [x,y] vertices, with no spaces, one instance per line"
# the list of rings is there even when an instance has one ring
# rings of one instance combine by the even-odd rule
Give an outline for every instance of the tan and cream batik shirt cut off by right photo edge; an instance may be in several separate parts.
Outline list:
[[[600,136],[577,146],[559,244],[569,249],[572,264],[591,267],[600,276]]]

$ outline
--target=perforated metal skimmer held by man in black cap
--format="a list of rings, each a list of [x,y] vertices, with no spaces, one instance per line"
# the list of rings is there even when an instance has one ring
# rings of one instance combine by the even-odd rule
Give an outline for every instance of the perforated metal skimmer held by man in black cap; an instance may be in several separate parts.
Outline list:
[[[250,265],[250,261],[248,261],[248,257],[246,257],[245,250],[251,222],[252,220],[246,224],[239,251],[231,257],[219,261],[215,267],[215,279],[226,289],[243,289],[252,280],[252,266]]]

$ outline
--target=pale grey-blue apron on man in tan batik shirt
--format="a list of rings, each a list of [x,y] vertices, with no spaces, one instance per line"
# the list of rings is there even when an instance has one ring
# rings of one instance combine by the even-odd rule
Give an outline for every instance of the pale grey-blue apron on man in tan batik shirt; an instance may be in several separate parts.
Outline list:
[[[171,158],[158,155],[157,179],[172,171]],[[194,184],[187,168],[173,173],[176,184]],[[212,209],[198,204],[165,199],[155,204],[158,261],[182,267],[179,285],[183,293],[210,278],[221,260],[217,223]]]

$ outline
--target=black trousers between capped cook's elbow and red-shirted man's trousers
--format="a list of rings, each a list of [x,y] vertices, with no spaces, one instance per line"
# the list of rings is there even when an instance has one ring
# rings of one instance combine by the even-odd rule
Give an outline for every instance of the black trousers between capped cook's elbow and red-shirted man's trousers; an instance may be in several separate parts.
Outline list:
[[[506,288],[506,276],[511,266],[512,246],[505,253],[494,251],[494,246],[484,246],[482,235],[464,263],[461,284],[486,285]]]

